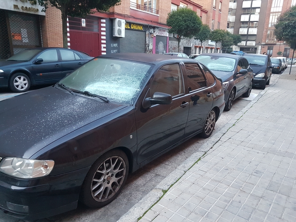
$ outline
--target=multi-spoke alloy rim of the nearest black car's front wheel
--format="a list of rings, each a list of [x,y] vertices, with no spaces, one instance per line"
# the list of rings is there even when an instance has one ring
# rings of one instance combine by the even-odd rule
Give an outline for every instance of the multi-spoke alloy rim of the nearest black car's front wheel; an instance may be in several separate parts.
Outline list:
[[[91,195],[97,202],[105,202],[120,189],[126,176],[126,164],[119,156],[106,159],[96,170],[91,183]]]

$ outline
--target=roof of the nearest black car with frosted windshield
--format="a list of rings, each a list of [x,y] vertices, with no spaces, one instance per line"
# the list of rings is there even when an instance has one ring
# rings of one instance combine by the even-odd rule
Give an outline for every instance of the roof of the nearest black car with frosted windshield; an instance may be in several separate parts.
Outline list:
[[[171,60],[171,59],[188,60],[189,59],[189,58],[183,58],[183,57],[169,57],[165,54],[151,54],[151,53],[112,53],[112,54],[100,55],[99,57],[124,59],[124,60],[145,62],[145,63],[151,63],[151,64],[155,64],[156,62],[160,62],[163,60]]]

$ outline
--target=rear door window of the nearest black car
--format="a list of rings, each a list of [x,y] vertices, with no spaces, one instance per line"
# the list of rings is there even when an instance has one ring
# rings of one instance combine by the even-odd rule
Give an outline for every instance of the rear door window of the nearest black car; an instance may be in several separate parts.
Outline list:
[[[206,87],[205,77],[196,63],[185,63],[189,93]]]

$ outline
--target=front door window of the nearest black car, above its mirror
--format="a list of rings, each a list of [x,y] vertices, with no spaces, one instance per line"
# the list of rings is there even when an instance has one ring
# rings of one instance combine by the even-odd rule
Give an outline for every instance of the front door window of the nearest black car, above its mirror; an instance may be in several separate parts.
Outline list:
[[[176,96],[184,93],[183,79],[178,63],[164,65],[155,73],[150,86],[150,94],[162,92]]]

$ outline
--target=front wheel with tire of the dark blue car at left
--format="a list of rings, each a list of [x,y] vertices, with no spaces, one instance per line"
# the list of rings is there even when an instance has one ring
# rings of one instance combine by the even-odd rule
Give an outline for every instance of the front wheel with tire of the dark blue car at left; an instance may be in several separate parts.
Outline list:
[[[26,92],[30,89],[31,81],[24,73],[15,73],[10,77],[9,89],[14,92]]]

